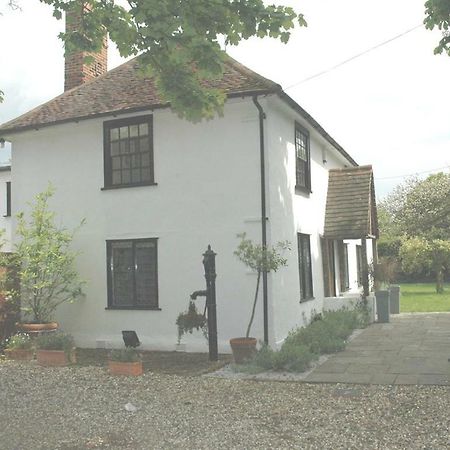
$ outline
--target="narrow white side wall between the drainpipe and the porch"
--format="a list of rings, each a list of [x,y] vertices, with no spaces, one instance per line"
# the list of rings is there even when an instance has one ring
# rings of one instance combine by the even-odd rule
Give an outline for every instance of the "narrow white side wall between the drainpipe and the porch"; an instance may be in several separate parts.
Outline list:
[[[288,240],[288,266],[271,277],[272,341],[279,345],[287,333],[322,311],[324,300],[320,236],[323,234],[328,171],[350,166],[306,121],[279,99],[265,103],[268,147],[270,242]],[[311,193],[295,192],[295,122],[310,133]],[[324,162],[325,160],[325,162]],[[297,233],[310,235],[314,299],[300,303]]]

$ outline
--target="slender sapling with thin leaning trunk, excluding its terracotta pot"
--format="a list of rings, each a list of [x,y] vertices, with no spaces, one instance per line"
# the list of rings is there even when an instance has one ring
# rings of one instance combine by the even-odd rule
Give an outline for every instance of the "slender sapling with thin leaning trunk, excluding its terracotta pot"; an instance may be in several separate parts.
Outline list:
[[[238,234],[237,237],[241,239],[241,242],[234,254],[248,268],[257,273],[252,313],[245,333],[245,337],[248,338],[255,318],[261,274],[263,272],[276,272],[280,267],[287,266],[287,259],[282,256],[282,251],[290,250],[290,243],[288,241],[283,241],[278,242],[274,247],[264,247],[261,244],[255,244],[251,239],[248,239],[245,233]]]

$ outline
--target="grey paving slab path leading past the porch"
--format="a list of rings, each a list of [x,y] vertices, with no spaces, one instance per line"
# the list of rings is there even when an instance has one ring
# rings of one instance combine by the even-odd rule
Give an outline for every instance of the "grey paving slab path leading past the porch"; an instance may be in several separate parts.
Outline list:
[[[450,386],[450,313],[391,315],[332,355],[304,381]]]

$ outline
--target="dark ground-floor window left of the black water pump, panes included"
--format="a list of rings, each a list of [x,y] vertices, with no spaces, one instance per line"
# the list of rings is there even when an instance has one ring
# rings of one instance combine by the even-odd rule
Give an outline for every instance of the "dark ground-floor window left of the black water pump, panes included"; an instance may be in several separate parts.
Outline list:
[[[157,239],[106,241],[108,308],[158,308]]]

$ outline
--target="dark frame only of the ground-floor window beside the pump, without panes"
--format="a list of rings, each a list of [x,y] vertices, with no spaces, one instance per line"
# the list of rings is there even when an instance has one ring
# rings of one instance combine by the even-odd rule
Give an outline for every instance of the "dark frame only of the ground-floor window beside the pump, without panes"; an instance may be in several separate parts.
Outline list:
[[[115,305],[113,296],[113,274],[111,271],[112,244],[121,242],[131,242],[133,251],[133,305]],[[156,281],[156,298],[152,305],[137,305],[136,303],[136,243],[152,242],[155,244],[155,281]],[[116,310],[154,310],[161,311],[159,307],[159,285],[158,285],[158,238],[138,238],[138,239],[111,239],[106,241],[106,271],[107,271],[107,295],[108,306],[106,309]]]

